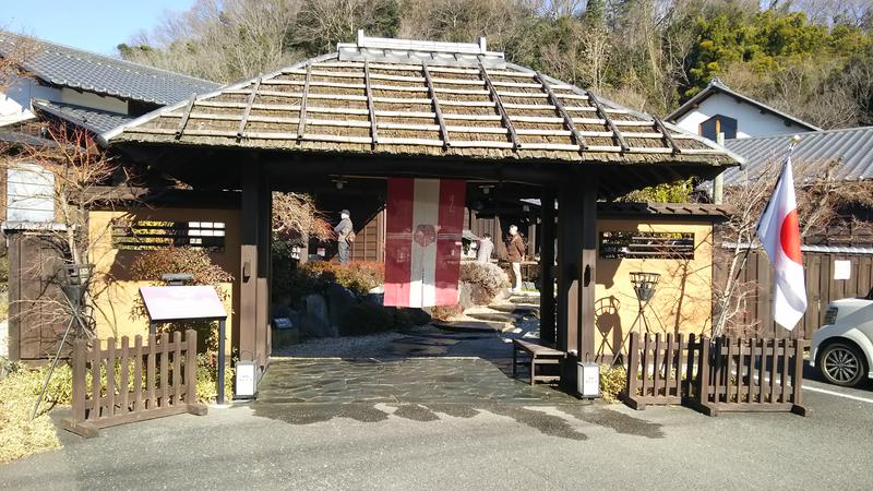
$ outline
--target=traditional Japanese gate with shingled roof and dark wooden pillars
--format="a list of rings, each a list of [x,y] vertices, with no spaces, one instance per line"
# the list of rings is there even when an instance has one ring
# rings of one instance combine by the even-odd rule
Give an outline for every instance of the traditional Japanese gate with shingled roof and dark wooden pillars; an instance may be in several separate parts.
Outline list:
[[[362,33],[337,52],[192,97],[101,140],[196,189],[241,191],[235,339],[262,367],[271,348],[271,191],[318,194],[352,178],[416,177],[464,179],[468,194],[540,197],[543,258],[554,256],[558,239],[558,267],[542,262],[543,337],[584,359],[595,348],[598,197],[713,178],[737,164],[711,142],[509,63],[485,39]],[[369,188],[344,192],[351,201]]]

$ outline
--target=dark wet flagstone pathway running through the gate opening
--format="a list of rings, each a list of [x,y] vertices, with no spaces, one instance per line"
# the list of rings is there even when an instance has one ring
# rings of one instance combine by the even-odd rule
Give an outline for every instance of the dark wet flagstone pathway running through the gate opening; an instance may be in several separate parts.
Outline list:
[[[253,405],[577,402],[558,387],[529,385],[525,369],[512,378],[512,339],[539,334],[537,311],[513,306],[476,311],[480,319],[503,321],[501,330],[458,332],[431,325],[290,347],[280,354],[285,357],[271,358]]]

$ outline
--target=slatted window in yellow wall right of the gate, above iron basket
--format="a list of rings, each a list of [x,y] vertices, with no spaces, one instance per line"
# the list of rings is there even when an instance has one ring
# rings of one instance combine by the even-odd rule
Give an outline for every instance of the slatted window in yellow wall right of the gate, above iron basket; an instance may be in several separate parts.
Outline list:
[[[600,232],[602,259],[693,260],[694,232]]]

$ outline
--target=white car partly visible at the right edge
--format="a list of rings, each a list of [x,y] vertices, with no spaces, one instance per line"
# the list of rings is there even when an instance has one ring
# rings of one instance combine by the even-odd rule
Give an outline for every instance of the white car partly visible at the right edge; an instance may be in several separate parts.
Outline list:
[[[832,384],[851,387],[873,379],[873,289],[864,298],[827,306],[825,325],[812,337],[810,366]]]

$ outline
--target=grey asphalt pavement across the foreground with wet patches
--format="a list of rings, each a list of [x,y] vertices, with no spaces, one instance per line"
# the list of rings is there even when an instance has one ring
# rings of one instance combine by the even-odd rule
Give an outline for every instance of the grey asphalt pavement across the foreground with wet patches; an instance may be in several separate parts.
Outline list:
[[[808,386],[805,418],[487,400],[212,408],[61,433],[62,450],[0,466],[0,488],[870,489],[873,388]]]

